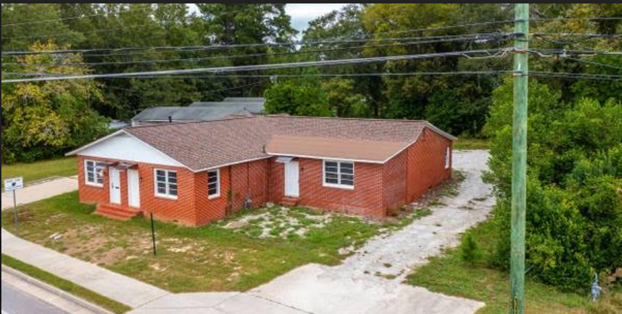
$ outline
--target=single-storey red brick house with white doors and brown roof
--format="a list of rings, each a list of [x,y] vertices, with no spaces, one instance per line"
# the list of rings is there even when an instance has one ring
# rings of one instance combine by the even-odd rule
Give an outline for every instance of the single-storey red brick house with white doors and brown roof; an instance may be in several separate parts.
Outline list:
[[[384,217],[451,176],[427,121],[245,116],[121,129],[71,151],[79,200],[199,226],[266,202]]]

